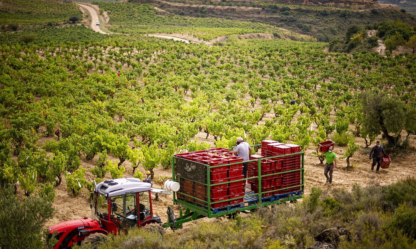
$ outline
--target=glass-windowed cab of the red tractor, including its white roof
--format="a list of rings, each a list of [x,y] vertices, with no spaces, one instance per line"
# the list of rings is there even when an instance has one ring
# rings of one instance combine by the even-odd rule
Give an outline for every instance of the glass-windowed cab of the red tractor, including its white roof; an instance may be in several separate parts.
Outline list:
[[[151,189],[150,183],[137,178],[103,181],[92,193],[92,217],[111,234],[149,223],[160,224],[160,217],[153,215]]]

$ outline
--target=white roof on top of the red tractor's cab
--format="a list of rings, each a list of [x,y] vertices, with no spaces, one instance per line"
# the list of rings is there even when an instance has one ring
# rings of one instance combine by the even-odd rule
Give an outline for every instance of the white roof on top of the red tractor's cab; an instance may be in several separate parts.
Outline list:
[[[144,183],[137,178],[118,178],[107,180],[99,183],[95,187],[95,191],[98,191],[102,195],[107,194],[109,197],[143,192],[150,189],[150,183]]]

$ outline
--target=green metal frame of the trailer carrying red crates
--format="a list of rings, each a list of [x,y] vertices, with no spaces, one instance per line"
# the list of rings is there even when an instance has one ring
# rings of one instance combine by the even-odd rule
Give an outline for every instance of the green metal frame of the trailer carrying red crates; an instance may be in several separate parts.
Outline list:
[[[260,146],[260,144],[257,145],[253,145],[253,146]],[[252,146],[252,147],[253,147]],[[301,164],[299,168],[296,169],[292,169],[292,170],[287,170],[287,171],[281,171],[281,172],[277,172],[277,173],[271,173],[271,174],[267,174],[267,175],[262,175],[261,173],[261,160],[263,159],[277,159],[280,157],[284,157],[284,156],[300,156],[301,157]],[[178,158],[176,156],[172,157],[172,179],[176,179],[176,181],[178,181],[180,184],[183,181],[190,181],[191,179],[189,178],[185,178],[183,176],[178,176],[175,172],[176,172],[176,162],[177,162]],[[182,160],[186,160],[186,159],[182,159]],[[188,161],[188,160],[186,160]],[[188,161],[189,163],[194,163],[193,161]],[[208,218],[213,218],[213,217],[218,217],[218,216],[224,216],[224,215],[233,215],[235,213],[239,213],[239,212],[245,212],[247,210],[253,210],[255,208],[258,207],[264,207],[264,206],[269,206],[269,205],[275,205],[275,204],[280,204],[280,203],[284,203],[287,201],[292,201],[292,200],[297,200],[302,198],[302,194],[304,193],[304,152],[298,152],[298,153],[293,153],[293,154],[285,154],[285,155],[280,155],[280,156],[270,156],[270,157],[264,157],[261,159],[254,159],[254,160],[249,160],[249,161],[244,161],[244,162],[255,162],[258,165],[258,176],[254,176],[254,177],[247,177],[244,179],[239,179],[236,181],[228,181],[226,183],[234,183],[234,182],[238,182],[238,181],[249,181],[251,179],[253,179],[255,181],[255,183],[257,183],[258,186],[258,193],[254,193],[254,191],[250,188],[250,186],[248,186],[247,184],[245,184],[245,193],[244,193],[244,197],[243,197],[243,202],[241,203],[237,203],[234,205],[227,205],[224,207],[219,207],[219,208],[211,208],[211,205],[215,204],[215,203],[219,203],[220,201],[217,202],[211,202],[210,200],[210,190],[212,187],[214,186],[218,186],[220,184],[224,184],[224,183],[216,183],[216,184],[211,184],[210,182],[210,172],[212,171],[213,168],[216,167],[221,167],[221,166],[225,166],[225,165],[218,165],[218,166],[209,166],[208,164],[203,164],[204,169],[206,170],[206,181],[205,183],[199,183],[202,184],[203,186],[206,187],[206,196],[208,196],[208,198],[206,200],[203,200],[202,198],[198,198],[195,195],[189,195],[187,193],[183,193],[181,192],[181,190],[179,190],[176,193],[173,193],[173,204],[174,205],[179,205],[181,207],[183,207],[186,211],[183,213],[182,209],[180,210],[179,213],[179,217],[175,217],[175,215],[173,214],[173,210],[171,208],[168,209],[168,219],[169,221],[166,222],[165,224],[163,224],[163,227],[171,227],[173,230],[178,229],[178,228],[182,228],[182,224],[185,222],[189,222],[192,220],[198,220],[204,217],[208,217]],[[233,165],[233,164],[241,164],[241,162],[237,162],[237,163],[231,163],[231,164],[226,164],[227,166],[229,165]],[[286,174],[286,173],[291,173],[291,172],[300,172],[300,184],[296,185],[296,186],[290,186],[290,187],[285,187],[285,186],[281,186],[279,188],[276,189],[271,189],[268,191],[262,191],[262,179],[266,178],[267,176],[283,176],[282,174]],[[252,181],[253,181],[252,180]],[[285,191],[285,190],[292,190],[292,189],[296,189],[298,188],[298,190],[295,191]],[[278,194],[275,194],[275,193]],[[280,192],[280,193],[279,193]],[[178,195],[180,195],[182,198],[177,198]],[[238,198],[232,198],[229,199],[230,201],[235,200],[235,199],[239,199],[241,200],[241,197]]]

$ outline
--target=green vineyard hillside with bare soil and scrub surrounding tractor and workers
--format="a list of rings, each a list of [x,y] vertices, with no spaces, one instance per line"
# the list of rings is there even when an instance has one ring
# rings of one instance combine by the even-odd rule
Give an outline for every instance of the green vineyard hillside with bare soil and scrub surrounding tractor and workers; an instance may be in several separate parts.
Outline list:
[[[173,154],[230,148],[236,137],[300,145],[305,198],[163,237],[138,229],[102,248],[301,249],[325,229],[338,234],[331,248],[415,248],[411,15],[373,1],[87,5],[0,1],[1,196],[17,203],[0,215],[0,248],[43,248],[42,229],[90,216],[94,181],[149,170],[162,187]],[[337,46],[351,49],[329,52]],[[332,186],[317,153],[327,139],[338,156]],[[379,174],[368,157],[376,140],[392,159]],[[10,212],[37,197],[54,213],[11,229]],[[153,204],[166,221],[172,195]]]

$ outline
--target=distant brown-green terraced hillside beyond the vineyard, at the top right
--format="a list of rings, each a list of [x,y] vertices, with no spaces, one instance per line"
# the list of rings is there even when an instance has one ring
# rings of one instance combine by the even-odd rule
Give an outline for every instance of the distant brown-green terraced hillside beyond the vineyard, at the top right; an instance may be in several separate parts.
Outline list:
[[[261,22],[290,29],[329,41],[343,36],[352,24],[376,24],[386,20],[402,20],[415,24],[414,17],[399,11],[394,5],[380,5],[373,1],[297,2],[285,4],[273,1],[181,1],[131,0],[156,6],[166,12],[192,17],[219,17],[228,20]],[[310,5],[309,5],[310,4]],[[163,13],[166,15],[166,13]],[[371,28],[372,29],[372,28]]]

